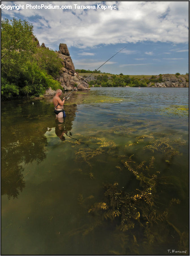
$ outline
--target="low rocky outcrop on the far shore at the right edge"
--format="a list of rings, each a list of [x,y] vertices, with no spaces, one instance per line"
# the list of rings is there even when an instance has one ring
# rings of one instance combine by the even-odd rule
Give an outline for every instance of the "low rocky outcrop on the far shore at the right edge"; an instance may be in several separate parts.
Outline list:
[[[148,87],[189,87],[188,75],[162,75],[162,82],[157,82],[154,85],[148,84]]]

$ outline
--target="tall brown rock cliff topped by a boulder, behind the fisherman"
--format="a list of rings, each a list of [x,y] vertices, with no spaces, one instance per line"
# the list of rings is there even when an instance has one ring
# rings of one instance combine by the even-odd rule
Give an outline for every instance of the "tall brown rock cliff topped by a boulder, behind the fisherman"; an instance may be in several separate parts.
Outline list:
[[[64,90],[73,90],[74,87],[78,86],[84,79],[76,74],[74,64],[72,62],[69,50],[66,44],[59,45],[59,51],[56,51],[58,57],[61,59],[63,67],[57,76],[57,81],[61,82],[61,86]],[[78,90],[89,90],[88,83],[82,82],[77,88]]]

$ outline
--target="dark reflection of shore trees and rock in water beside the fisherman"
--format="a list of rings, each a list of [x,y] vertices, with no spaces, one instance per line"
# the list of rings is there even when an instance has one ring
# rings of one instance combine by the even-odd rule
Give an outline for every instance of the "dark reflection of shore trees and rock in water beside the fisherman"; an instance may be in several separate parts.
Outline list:
[[[1,195],[17,198],[25,187],[24,165],[46,158],[47,127],[55,127],[55,133],[64,140],[64,133],[72,129],[76,104],[68,107],[67,120],[55,122],[52,103],[35,100],[3,102],[1,115]],[[66,107],[67,109],[67,107]],[[9,118],[7,118],[7,116]],[[56,125],[56,126],[55,126]]]

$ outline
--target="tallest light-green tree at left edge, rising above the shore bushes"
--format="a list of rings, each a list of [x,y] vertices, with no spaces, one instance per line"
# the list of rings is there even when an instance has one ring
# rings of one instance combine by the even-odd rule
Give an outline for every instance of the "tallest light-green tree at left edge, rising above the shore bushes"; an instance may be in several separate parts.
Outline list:
[[[10,22],[8,19],[1,22],[1,75],[18,85],[20,69],[33,58],[37,43],[33,41],[32,24],[16,18]]]

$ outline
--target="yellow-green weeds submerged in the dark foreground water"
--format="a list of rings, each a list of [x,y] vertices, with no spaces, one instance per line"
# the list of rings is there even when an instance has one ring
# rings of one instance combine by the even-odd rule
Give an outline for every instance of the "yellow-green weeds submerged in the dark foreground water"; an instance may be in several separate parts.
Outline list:
[[[139,126],[133,127],[135,131],[138,128]],[[110,129],[106,133],[114,134],[114,131]],[[133,131],[125,129],[125,132],[129,134]],[[117,149],[115,143],[105,138],[78,135],[80,139],[76,143],[77,148],[79,147],[76,150],[76,160],[78,163],[87,164],[88,171],[93,170],[93,163],[97,160],[103,163],[103,157],[101,158],[100,155],[112,155]],[[151,254],[155,248],[165,246],[165,241],[173,232],[177,233],[176,245],[187,250],[187,232],[180,231],[170,220],[174,205],[180,205],[181,199],[174,197],[171,193],[169,197],[167,195],[168,201],[166,201],[165,193],[167,193],[168,186],[171,189],[173,184],[166,182],[166,177],[163,176],[164,166],[172,164],[174,155],[182,154],[177,148],[183,145],[184,141],[172,139],[172,136],[169,138],[164,134],[160,135],[151,133],[136,136],[136,141],[126,144],[127,150],[119,156],[120,163],[116,168],[124,177],[124,173],[128,172],[133,175],[133,179],[137,181],[135,190],[129,191],[125,187],[122,188],[116,180],[114,183],[103,184],[102,201],[96,201],[93,195],[86,198],[83,194],[79,195],[78,203],[88,213],[91,224],[71,230],[69,236],[78,234],[87,236],[109,222],[115,230],[114,236],[117,241],[116,248],[109,251],[111,254],[126,254],[129,244],[133,246],[130,246],[128,253],[140,255],[144,251]],[[80,147],[80,141],[87,141],[89,148]],[[143,154],[143,151],[146,154]],[[144,156],[144,158],[141,159],[139,156]],[[92,162],[92,158],[96,160]],[[162,162],[162,168],[160,162]],[[86,175],[82,169],[80,169],[80,174]],[[90,172],[89,177],[93,180],[94,174]],[[92,201],[94,203],[91,203]]]

